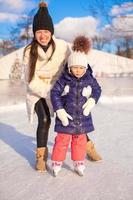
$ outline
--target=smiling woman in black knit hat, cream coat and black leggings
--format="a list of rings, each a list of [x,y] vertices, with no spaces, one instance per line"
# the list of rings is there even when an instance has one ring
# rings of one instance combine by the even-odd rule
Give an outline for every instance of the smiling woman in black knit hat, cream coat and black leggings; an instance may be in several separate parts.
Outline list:
[[[24,51],[26,104],[30,122],[34,112],[38,116],[36,169],[45,171],[50,116],[53,114],[49,93],[63,71],[69,48],[65,41],[54,37],[54,25],[44,2],[39,4],[34,16],[33,35],[32,42]]]

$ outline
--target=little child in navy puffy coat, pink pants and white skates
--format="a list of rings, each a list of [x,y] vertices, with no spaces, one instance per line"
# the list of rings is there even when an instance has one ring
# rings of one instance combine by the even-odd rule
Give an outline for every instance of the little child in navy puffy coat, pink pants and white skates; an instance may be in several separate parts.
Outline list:
[[[67,68],[51,90],[57,132],[51,157],[55,176],[61,170],[70,141],[74,170],[80,176],[84,173],[86,135],[94,130],[91,109],[101,95],[101,87],[88,68],[90,46],[88,38],[75,38]]]

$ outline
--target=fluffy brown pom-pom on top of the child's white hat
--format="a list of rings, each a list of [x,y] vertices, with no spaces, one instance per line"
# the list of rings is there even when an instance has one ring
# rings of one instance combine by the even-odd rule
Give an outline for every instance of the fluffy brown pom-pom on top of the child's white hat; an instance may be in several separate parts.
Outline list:
[[[87,54],[90,48],[91,48],[91,40],[85,36],[78,36],[73,41],[73,46],[72,46],[73,51],[80,51]]]

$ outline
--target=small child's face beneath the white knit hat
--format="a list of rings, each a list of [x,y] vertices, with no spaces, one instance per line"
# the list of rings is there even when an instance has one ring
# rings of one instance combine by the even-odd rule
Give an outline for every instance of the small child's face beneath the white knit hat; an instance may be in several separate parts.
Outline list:
[[[83,66],[77,66],[76,65],[76,66],[70,67],[70,71],[77,78],[81,78],[85,74],[86,68],[83,67]]]

